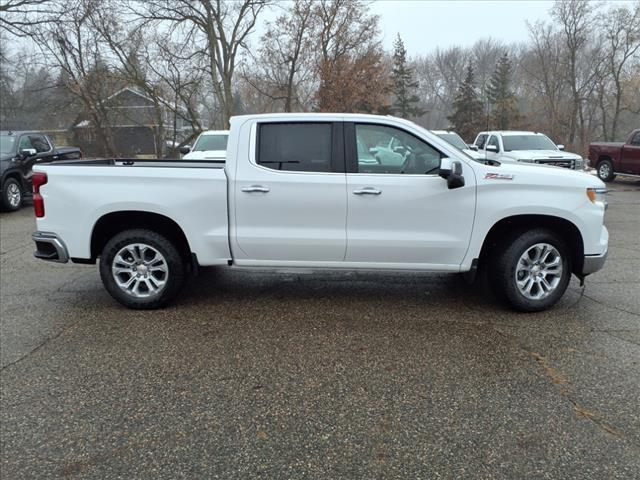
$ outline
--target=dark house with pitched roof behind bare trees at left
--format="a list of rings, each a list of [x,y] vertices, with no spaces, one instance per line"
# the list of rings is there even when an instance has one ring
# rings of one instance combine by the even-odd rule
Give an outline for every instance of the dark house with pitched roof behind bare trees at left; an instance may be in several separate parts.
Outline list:
[[[192,125],[181,116],[174,115],[169,108],[161,107],[164,132],[160,132],[154,101],[142,92],[125,87],[104,100],[108,111],[108,122],[113,134],[116,153],[119,157],[159,157],[166,152],[157,151],[157,145],[172,145],[188,137],[193,131]],[[163,105],[170,103],[162,101]],[[175,128],[174,128],[175,125]],[[96,156],[102,153],[99,133],[91,120],[80,117],[71,127],[74,144],[82,146],[85,155]],[[157,136],[164,138],[157,141]]]

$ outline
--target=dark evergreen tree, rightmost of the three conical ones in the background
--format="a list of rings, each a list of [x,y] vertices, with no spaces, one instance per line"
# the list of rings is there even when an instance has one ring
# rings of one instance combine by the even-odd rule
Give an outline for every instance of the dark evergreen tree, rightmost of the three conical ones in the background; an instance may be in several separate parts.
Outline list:
[[[520,117],[516,96],[511,90],[511,62],[505,53],[498,60],[487,86],[487,97],[491,105],[491,123],[494,128],[508,130]]]

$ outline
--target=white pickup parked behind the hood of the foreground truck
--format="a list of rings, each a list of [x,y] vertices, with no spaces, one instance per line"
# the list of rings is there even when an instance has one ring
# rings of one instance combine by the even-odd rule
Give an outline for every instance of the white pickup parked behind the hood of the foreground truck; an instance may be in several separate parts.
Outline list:
[[[538,132],[491,131],[480,132],[473,142],[487,160],[523,162],[584,170],[580,155],[564,151],[549,137]]]

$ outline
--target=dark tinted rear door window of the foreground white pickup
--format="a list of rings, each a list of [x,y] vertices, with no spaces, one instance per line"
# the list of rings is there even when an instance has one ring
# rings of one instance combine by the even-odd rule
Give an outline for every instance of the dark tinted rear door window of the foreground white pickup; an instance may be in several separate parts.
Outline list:
[[[258,165],[294,172],[331,171],[331,123],[263,123]]]

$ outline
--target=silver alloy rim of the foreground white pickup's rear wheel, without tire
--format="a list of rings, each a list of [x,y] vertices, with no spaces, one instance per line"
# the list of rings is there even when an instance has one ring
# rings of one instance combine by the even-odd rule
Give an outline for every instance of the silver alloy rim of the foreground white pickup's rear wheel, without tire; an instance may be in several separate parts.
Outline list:
[[[111,272],[122,291],[136,298],[149,298],[165,288],[169,265],[154,247],[132,243],[118,251],[113,258]]]

